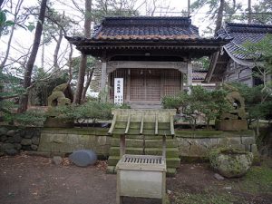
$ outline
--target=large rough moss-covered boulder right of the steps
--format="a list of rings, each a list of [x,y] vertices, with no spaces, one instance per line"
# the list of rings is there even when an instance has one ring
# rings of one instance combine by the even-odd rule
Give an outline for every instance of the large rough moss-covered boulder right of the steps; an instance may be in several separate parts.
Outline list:
[[[236,178],[248,172],[253,161],[253,154],[232,148],[219,148],[210,151],[209,161],[211,167],[220,175]]]

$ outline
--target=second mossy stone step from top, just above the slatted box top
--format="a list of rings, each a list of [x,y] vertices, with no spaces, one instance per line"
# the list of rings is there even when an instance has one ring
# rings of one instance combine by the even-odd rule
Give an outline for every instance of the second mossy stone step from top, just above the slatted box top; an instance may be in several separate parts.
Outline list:
[[[143,154],[143,148],[126,148],[126,154],[137,154],[141,155]],[[162,149],[161,148],[146,148],[145,149],[146,155],[162,155]],[[111,156],[119,156],[120,155],[120,148],[119,147],[111,147],[110,149],[110,155]],[[166,149],[166,157],[174,158],[179,157],[179,150],[178,148],[167,148]]]

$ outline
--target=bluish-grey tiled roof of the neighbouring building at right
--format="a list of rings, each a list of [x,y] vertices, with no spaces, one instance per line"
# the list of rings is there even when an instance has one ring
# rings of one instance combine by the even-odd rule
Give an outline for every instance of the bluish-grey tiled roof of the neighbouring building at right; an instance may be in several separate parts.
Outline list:
[[[257,43],[263,39],[266,34],[272,34],[272,25],[226,23],[225,28],[219,30],[218,37],[232,39],[232,41],[224,47],[233,56],[240,60],[251,60],[252,55],[256,53],[243,53],[245,49],[243,44],[248,41]]]

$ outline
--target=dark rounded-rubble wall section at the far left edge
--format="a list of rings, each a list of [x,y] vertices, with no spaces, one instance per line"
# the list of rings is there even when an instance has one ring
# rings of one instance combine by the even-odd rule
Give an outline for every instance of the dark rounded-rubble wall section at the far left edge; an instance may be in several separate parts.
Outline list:
[[[37,151],[40,128],[0,127],[0,156],[15,155],[19,151]]]

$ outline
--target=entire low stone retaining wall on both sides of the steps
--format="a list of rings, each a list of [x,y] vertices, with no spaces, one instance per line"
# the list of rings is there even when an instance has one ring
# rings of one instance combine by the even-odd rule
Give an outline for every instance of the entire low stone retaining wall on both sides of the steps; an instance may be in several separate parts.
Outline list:
[[[66,154],[89,149],[99,157],[109,156],[112,137],[107,128],[15,128],[0,127],[0,155],[18,151]],[[232,146],[257,155],[254,131],[177,131],[181,160],[207,158],[210,148]]]

